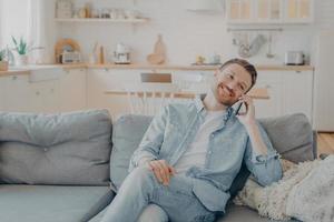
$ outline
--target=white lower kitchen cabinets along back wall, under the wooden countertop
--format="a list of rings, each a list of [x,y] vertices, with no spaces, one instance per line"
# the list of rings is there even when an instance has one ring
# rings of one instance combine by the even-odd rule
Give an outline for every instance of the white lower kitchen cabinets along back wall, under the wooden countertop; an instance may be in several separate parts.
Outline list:
[[[106,108],[117,118],[129,112],[127,95],[107,94],[108,90],[121,89],[126,82],[140,82],[141,72],[150,70],[89,69],[87,73],[88,108]],[[183,91],[205,93],[214,71],[158,70],[171,73],[171,81]],[[254,100],[257,118],[304,113],[312,121],[313,71],[259,70],[256,88],[266,88],[268,100]],[[179,99],[177,102],[181,102]]]

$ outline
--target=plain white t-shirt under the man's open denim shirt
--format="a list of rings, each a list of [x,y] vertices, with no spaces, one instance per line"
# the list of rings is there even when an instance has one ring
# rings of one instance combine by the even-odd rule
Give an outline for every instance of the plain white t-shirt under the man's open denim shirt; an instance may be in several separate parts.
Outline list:
[[[207,111],[207,115],[199,127],[194,141],[174,167],[177,173],[185,173],[194,165],[204,167],[209,135],[222,123],[224,113],[225,111]]]

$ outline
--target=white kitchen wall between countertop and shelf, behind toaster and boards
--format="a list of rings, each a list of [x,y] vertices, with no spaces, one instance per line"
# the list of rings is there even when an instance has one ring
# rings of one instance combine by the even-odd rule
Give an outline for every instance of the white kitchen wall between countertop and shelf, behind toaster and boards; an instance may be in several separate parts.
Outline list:
[[[209,59],[215,53],[222,60],[238,57],[237,47],[233,44],[233,33],[227,31],[223,13],[199,13],[186,10],[186,0],[77,0],[76,8],[90,2],[95,8],[122,8],[139,10],[150,19],[147,23],[57,23],[58,38],[76,39],[82,49],[84,59],[88,60],[94,44],[99,42],[111,56],[118,42],[131,48],[132,62],[146,62],[147,54],[154,50],[157,36],[163,34],[167,50],[167,62],[189,64],[196,56]],[[315,20],[316,20],[315,9]],[[316,21],[315,21],[316,23]],[[288,50],[302,50],[310,56],[316,26],[284,26],[282,32],[272,32],[273,59],[266,57],[268,46],[265,43],[259,52],[249,58],[256,63],[283,63]],[[268,36],[268,32],[250,34]]]

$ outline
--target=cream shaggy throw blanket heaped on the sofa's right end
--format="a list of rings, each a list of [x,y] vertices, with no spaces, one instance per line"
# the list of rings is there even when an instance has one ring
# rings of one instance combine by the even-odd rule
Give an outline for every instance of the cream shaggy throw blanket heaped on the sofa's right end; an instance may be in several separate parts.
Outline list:
[[[334,155],[298,165],[283,161],[283,179],[266,188],[248,179],[234,202],[275,220],[334,222]]]

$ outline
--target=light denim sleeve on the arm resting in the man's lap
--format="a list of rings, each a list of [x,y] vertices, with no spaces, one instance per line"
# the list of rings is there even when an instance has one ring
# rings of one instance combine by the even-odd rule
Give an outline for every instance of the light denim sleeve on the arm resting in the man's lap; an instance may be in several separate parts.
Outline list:
[[[167,114],[167,107],[165,107],[153,119],[150,125],[143,137],[138,149],[134,152],[130,159],[129,172],[143,162],[158,159],[159,151],[164,141]]]

